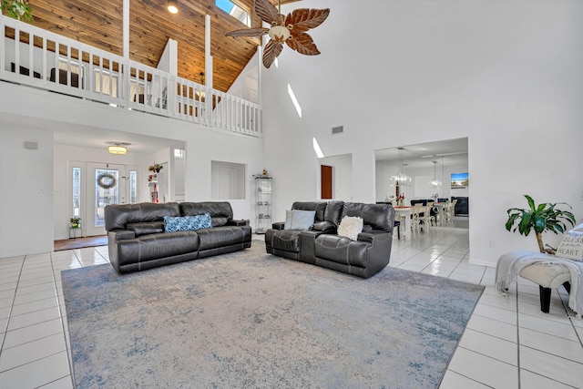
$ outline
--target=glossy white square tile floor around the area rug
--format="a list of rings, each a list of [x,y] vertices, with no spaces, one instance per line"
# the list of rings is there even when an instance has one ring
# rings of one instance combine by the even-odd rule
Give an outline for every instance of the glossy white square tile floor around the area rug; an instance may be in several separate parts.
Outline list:
[[[498,296],[495,269],[468,262],[466,222],[457,223],[465,228],[395,237],[391,256],[391,266],[486,286],[440,388],[583,387],[583,320],[568,295],[554,292],[547,314],[527,280]],[[73,387],[60,271],[100,263],[107,247],[0,259],[0,388]]]

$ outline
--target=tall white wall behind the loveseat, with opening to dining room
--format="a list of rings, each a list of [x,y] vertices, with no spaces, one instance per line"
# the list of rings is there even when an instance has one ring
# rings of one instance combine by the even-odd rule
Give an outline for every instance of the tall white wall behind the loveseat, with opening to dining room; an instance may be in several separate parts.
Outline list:
[[[304,0],[302,7],[331,8],[310,32],[322,55],[285,46],[279,67],[263,71],[274,219],[293,200],[318,196],[312,137],[326,156],[353,154],[353,198],[361,201],[376,198],[375,149],[467,137],[472,262],[537,250],[533,237],[504,228],[506,209],[526,205],[525,193],[567,201],[581,220],[583,2],[366,3]],[[333,137],[340,125],[343,137]]]

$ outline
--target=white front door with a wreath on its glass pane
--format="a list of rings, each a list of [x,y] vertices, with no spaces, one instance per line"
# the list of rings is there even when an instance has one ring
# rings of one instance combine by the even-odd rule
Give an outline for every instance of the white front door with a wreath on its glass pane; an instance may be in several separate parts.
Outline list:
[[[87,236],[105,235],[104,209],[110,204],[123,204],[127,199],[126,166],[87,163]]]

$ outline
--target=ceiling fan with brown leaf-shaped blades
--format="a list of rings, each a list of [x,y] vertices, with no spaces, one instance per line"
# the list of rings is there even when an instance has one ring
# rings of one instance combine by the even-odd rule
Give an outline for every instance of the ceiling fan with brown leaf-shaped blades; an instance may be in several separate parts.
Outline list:
[[[286,43],[293,50],[305,56],[317,56],[320,54],[318,47],[313,43],[312,36],[307,34],[311,28],[322,25],[330,14],[330,8],[312,9],[298,8],[291,14],[281,15],[281,1],[278,3],[279,9],[272,5],[269,0],[255,0],[255,14],[271,28],[243,28],[231,31],[226,36],[263,36],[268,34],[270,41],[263,49],[263,65],[271,67],[275,58],[281,54],[283,43]]]

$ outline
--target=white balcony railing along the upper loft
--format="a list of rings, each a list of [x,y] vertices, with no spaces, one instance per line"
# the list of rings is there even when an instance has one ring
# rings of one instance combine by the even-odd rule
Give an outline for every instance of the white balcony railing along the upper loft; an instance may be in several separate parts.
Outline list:
[[[0,80],[261,137],[258,104],[0,15]]]

